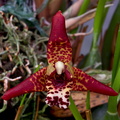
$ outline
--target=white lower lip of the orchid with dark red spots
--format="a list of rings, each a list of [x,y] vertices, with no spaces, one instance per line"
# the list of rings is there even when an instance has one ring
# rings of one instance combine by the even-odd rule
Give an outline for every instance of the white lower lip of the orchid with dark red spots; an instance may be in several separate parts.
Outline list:
[[[66,109],[70,105],[69,96],[70,96],[70,82],[61,88],[49,90],[45,102],[49,106],[58,106],[60,108]]]

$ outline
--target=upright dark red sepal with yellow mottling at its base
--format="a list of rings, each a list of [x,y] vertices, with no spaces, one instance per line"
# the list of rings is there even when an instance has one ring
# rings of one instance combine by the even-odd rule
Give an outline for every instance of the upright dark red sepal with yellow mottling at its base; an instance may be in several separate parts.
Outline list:
[[[69,63],[72,60],[72,48],[65,29],[65,18],[60,11],[52,19],[47,58],[49,63],[57,61]]]

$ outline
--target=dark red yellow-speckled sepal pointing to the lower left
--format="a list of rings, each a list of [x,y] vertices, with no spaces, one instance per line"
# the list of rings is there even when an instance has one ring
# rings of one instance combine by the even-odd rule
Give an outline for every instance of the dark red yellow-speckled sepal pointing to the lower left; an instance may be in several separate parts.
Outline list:
[[[2,96],[2,99],[9,100],[25,93],[46,91],[45,74],[46,68],[39,70],[17,86],[5,92],[5,94]]]

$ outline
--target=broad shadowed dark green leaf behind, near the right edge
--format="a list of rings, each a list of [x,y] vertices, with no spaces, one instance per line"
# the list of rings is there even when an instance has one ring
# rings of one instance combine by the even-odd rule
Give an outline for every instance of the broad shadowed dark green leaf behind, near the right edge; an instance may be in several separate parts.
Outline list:
[[[115,35],[116,25],[120,23],[120,3],[118,2],[116,10],[113,14],[110,25],[106,31],[103,47],[102,47],[102,69],[110,69],[110,59],[112,56],[111,48],[113,46],[113,39]],[[117,32],[116,32],[117,33]]]

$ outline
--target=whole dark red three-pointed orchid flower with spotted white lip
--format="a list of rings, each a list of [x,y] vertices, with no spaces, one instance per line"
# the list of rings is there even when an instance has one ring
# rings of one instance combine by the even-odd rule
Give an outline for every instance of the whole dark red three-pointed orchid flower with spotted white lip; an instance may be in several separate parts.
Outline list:
[[[92,91],[116,96],[110,87],[100,83],[82,70],[72,67],[72,47],[65,29],[65,18],[58,11],[52,19],[52,28],[47,45],[48,66],[32,74],[26,80],[8,90],[2,99],[36,91],[46,91],[45,102],[49,106],[67,108],[70,91]]]

